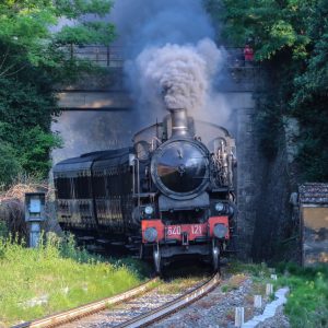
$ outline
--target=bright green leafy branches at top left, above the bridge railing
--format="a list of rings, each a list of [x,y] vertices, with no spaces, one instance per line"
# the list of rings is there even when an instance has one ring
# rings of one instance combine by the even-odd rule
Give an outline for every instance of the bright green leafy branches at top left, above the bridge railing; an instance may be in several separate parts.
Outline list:
[[[22,67],[26,59],[34,66],[69,73],[63,61],[51,60],[65,57],[59,46],[81,42],[108,44],[114,37],[114,26],[97,19],[106,15],[110,7],[110,0],[2,1],[0,40],[5,45],[4,59],[15,57],[5,73]],[[84,14],[94,14],[94,21],[85,22],[81,19]],[[0,69],[0,77],[1,73]]]

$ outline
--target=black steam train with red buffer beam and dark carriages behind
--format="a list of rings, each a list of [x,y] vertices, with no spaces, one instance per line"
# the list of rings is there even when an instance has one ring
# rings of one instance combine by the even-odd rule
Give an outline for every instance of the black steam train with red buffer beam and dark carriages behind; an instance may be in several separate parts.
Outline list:
[[[138,250],[157,273],[186,256],[218,270],[235,225],[235,142],[186,109],[168,110],[131,148],[58,163],[58,221],[81,239]]]

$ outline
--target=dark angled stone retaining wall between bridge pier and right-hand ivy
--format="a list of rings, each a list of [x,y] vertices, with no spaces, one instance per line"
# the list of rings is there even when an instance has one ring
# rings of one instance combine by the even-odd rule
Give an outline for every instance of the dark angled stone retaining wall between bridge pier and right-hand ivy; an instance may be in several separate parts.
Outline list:
[[[259,153],[259,194],[251,245],[251,256],[255,260],[284,259],[284,248],[289,246],[285,241],[293,234],[293,208],[290,203],[292,190],[284,134],[276,138],[280,139],[276,156],[267,159]]]

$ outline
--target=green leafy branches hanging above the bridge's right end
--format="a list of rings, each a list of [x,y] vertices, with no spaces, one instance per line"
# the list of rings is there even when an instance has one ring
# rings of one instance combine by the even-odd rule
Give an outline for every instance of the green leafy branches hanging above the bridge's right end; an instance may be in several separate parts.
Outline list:
[[[209,7],[216,0],[209,0]],[[311,15],[312,0],[223,0],[223,9],[214,15],[224,24],[223,37],[233,46],[249,42],[256,58],[270,59],[289,47],[295,57],[305,56],[309,38],[304,34]]]

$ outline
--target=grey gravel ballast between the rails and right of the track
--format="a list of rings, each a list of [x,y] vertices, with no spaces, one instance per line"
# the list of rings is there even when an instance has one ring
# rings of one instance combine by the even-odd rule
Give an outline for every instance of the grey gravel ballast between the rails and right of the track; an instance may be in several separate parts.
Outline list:
[[[254,294],[258,293],[258,283],[255,284],[250,277],[236,274],[227,277],[220,286],[215,288],[204,297],[196,301],[186,308],[166,317],[150,327],[152,328],[232,328],[235,319],[235,307],[245,308],[245,321],[255,315],[260,315],[269,302],[263,297],[262,308],[254,308]],[[263,285],[265,288],[265,285]],[[147,313],[166,302],[178,297],[180,293],[163,294],[159,290],[153,290],[143,296],[120,304],[115,308],[109,308],[98,314],[85,317],[79,321],[68,324],[67,328],[97,328],[115,327],[116,325],[131,319],[134,316]],[[288,318],[283,314],[283,307],[278,307],[272,318],[259,324],[259,328],[288,328]]]

